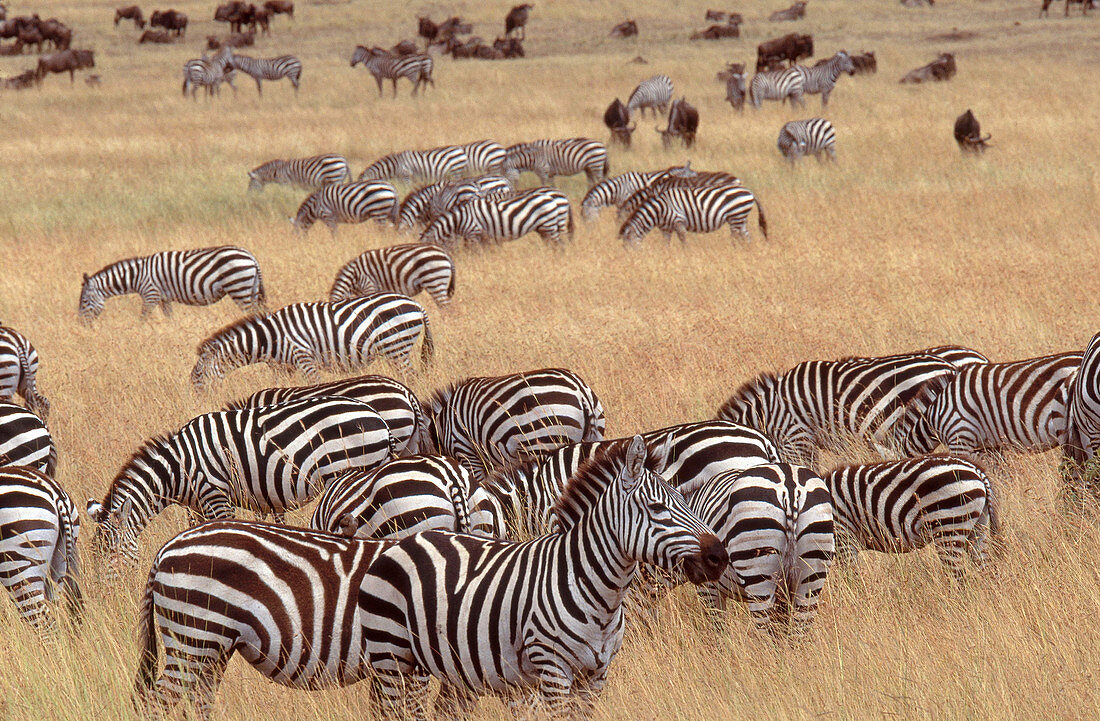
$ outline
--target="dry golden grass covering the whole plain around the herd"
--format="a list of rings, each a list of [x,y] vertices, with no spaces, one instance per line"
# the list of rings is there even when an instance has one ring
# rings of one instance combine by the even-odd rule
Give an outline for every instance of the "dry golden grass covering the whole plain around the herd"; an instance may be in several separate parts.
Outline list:
[[[578,371],[600,393],[613,435],[712,416],[740,382],[809,358],[887,353],[957,342],[994,359],[1082,348],[1096,330],[1100,244],[1096,167],[1100,61],[1096,17],[1060,6],[1036,20],[1037,0],[942,0],[904,10],[894,0],[814,0],[804,22],[763,18],[785,0],[743,7],[745,37],[690,43],[703,0],[670,3],[560,0],[536,6],[529,57],[510,63],[437,61],[437,87],[380,100],[356,43],[411,36],[414,15],[458,12],[492,40],[508,2],[312,4],[278,18],[257,55],[293,52],[300,97],[268,84],[198,102],[179,95],[180,67],[215,24],[213,0],[178,2],[191,17],[180,46],[138,46],[114,3],[11,2],[76,28],[97,51],[103,84],[51,77],[40,91],[0,95],[0,320],[42,357],[40,385],[53,402],[59,479],[73,496],[101,495],[147,436],[175,429],[229,398],[282,379],[263,369],[231,375],[205,397],[187,373],[195,347],[237,309],[176,307],[138,320],[135,298],[112,301],[92,329],[76,323],[80,273],[132,254],[237,243],[260,258],[271,302],[321,297],[336,270],[365,248],[403,240],[375,227],[296,237],[286,218],[301,194],[245,193],[245,172],[272,159],[341,152],[358,173],[404,148],[493,138],[605,138],[601,116],[616,95],[668,73],[702,113],[697,146],[663,152],[639,122],[636,149],[612,167],[682,162],[745,179],[769,212],[771,240],[730,243],[726,233],[666,245],[659,233],[625,251],[608,217],[579,225],[554,253],[525,239],[458,258],[453,310],[432,307],[438,362],[410,379],[427,393],[473,374],[544,365]],[[120,3],[121,4],[121,3]],[[146,10],[151,10],[152,6]],[[641,36],[606,37],[635,18]],[[961,42],[927,36],[953,29]],[[815,34],[818,56],[876,50],[879,74],[840,80],[825,117],[839,162],[791,170],[774,146],[780,125],[821,114],[770,105],[732,112],[714,73],[751,63],[756,43],[793,30]],[[946,84],[900,86],[939,51],[956,52]],[[648,65],[627,61],[644,55]],[[14,75],[30,57],[0,58]],[[993,133],[985,157],[960,156],[955,117],[972,108]],[[580,200],[583,182],[561,184]],[[609,214],[605,212],[605,216]],[[755,222],[755,221],[754,221]],[[580,223],[580,219],[579,219]],[[430,302],[426,301],[426,304]],[[378,369],[384,370],[383,368]],[[600,719],[1090,719],[1100,711],[1100,607],[1092,517],[1055,503],[1053,454],[993,468],[1005,526],[993,568],[948,582],[931,554],[865,558],[835,573],[816,631],[778,647],[735,614],[715,636],[686,591],[657,629],[631,627],[597,707]],[[300,516],[299,516],[300,517]],[[84,550],[87,557],[86,523]],[[81,635],[43,652],[0,603],[0,714],[12,719],[131,718],[135,603],[147,561],[184,527],[169,512],[143,537],[142,567],[110,588],[89,564]],[[43,671],[43,667],[47,670]],[[218,697],[219,719],[360,719],[367,689],[305,693],[268,684],[239,662]],[[479,718],[504,718],[495,701]]]

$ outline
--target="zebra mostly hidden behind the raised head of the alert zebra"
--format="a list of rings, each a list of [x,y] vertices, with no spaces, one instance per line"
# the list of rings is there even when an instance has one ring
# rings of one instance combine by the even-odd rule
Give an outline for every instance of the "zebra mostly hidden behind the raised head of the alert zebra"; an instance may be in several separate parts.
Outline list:
[[[678,490],[722,471],[779,462],[779,450],[767,437],[726,420],[671,426],[641,434],[641,439],[649,448],[650,470]],[[525,458],[494,472],[485,488],[505,506],[513,535],[542,533],[566,482],[581,466],[597,452],[629,440],[569,444]]]

